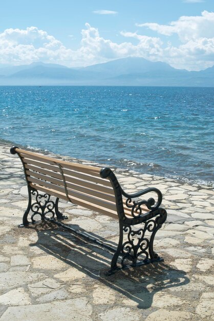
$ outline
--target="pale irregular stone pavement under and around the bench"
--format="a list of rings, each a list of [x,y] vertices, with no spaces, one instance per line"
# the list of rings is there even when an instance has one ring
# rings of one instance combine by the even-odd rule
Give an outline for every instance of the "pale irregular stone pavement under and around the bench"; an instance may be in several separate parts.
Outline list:
[[[108,250],[51,223],[18,227],[27,190],[10,147],[0,144],[1,321],[214,319],[212,188],[117,169],[128,192],[162,191],[168,218],[154,249],[164,262],[105,276]],[[116,246],[114,219],[66,202],[60,209],[66,223]]]

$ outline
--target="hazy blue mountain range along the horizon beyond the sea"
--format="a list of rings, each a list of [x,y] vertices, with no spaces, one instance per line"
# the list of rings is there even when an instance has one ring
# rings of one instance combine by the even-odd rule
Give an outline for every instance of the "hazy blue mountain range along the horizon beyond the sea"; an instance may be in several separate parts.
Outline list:
[[[32,63],[0,68],[0,86],[183,86],[214,87],[214,66],[201,71],[127,57],[88,67]]]

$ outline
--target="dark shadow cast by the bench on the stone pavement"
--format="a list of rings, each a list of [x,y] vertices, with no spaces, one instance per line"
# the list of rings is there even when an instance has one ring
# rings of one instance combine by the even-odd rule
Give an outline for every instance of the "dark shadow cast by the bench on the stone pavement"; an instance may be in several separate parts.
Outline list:
[[[112,252],[89,243],[69,231],[56,228],[50,222],[31,225],[28,228],[34,229],[38,235],[37,242],[31,244],[31,246],[36,246],[47,254],[60,259],[68,264],[68,268],[69,266],[74,267],[85,275],[96,279],[98,282],[96,284],[108,286],[110,289],[121,293],[128,299],[133,300],[140,309],[151,307],[154,295],[157,292],[189,283],[186,272],[172,268],[164,262],[120,270],[108,276],[106,272],[110,268]],[[84,231],[78,225],[76,225],[76,228]],[[106,240],[102,237],[92,232],[88,234],[106,243]],[[117,245],[112,242],[111,246],[116,248]],[[64,268],[56,273],[65,270]]]

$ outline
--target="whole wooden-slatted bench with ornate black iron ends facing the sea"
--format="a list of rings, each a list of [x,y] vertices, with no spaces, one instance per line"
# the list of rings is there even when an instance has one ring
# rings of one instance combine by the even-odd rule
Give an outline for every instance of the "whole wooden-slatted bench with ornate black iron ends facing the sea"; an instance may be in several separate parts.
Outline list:
[[[59,211],[58,202],[59,199],[65,199],[119,220],[119,242],[116,251],[98,239],[92,239],[114,251],[110,274],[118,269],[163,260],[153,250],[155,234],[167,216],[165,209],[160,207],[162,194],[157,188],[146,188],[129,194],[122,189],[110,168],[66,162],[18,147],[12,147],[10,152],[17,154],[22,161],[28,186],[28,207],[20,226],[36,223],[35,218],[39,215],[40,220],[51,220],[82,235],[80,231],[61,223],[61,220],[67,217]],[[155,193],[157,200],[153,197],[142,199],[142,195],[148,193]],[[54,196],[54,200],[51,196]],[[137,229],[139,224],[141,227]],[[139,260],[139,256],[143,259]],[[127,261],[131,264],[127,265]]]

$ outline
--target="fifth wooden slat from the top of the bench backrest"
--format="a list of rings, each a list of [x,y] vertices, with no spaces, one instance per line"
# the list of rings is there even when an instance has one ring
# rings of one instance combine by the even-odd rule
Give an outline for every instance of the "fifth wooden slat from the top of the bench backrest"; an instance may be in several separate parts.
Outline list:
[[[39,184],[41,186],[47,187],[47,188],[51,188],[53,190],[59,191],[61,193],[63,193],[65,191],[65,188],[62,188],[61,186],[58,185],[53,185],[51,183],[47,183],[44,182],[44,180],[39,180],[37,178],[34,177],[28,177],[29,182],[31,183],[36,183]],[[71,198],[71,201],[73,202],[73,199],[81,199],[84,202],[89,202],[94,204],[95,206],[102,206],[105,207],[106,209],[111,209],[111,210],[116,210],[116,205],[110,202],[106,202],[103,199],[99,199],[99,198],[95,198],[93,196],[87,195],[87,194],[81,194],[79,192],[75,192],[75,191],[71,191],[68,190],[69,193],[69,197]],[[73,202],[75,203],[75,202]]]

